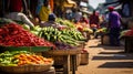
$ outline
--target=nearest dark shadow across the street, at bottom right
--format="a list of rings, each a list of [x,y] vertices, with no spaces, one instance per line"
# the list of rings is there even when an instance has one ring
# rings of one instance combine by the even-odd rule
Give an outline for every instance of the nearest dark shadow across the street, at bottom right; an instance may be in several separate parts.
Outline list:
[[[99,68],[133,68],[133,62],[106,62]]]

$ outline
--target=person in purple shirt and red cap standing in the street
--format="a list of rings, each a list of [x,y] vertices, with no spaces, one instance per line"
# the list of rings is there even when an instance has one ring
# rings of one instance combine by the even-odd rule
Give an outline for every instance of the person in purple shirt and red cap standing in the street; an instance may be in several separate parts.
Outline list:
[[[110,13],[109,13],[109,27],[108,29],[110,30],[110,43],[111,45],[119,46],[120,45],[120,30],[121,30],[121,15],[114,11],[113,7],[108,8]]]

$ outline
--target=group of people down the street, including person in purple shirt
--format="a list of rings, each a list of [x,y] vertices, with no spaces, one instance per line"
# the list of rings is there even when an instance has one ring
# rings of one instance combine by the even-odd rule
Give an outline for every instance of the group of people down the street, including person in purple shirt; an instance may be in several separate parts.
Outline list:
[[[108,19],[105,19],[103,15],[100,15],[95,10],[92,12],[92,14],[86,14],[86,17],[80,12],[75,12],[75,17],[73,15],[73,19],[75,24],[79,25],[78,22],[80,22],[82,27],[92,29],[94,39],[99,38],[99,34],[95,33],[99,29],[106,28],[109,32],[106,34],[110,38],[110,45],[120,46],[121,44],[119,36],[122,27],[122,18],[117,11],[114,11],[114,7],[109,7],[108,10]]]

